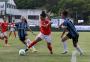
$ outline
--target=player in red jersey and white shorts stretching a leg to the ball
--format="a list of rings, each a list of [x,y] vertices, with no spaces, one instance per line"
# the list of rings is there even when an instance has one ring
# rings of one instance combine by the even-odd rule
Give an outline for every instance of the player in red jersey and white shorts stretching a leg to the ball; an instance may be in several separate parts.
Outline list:
[[[44,39],[47,42],[47,47],[50,51],[50,54],[53,54],[52,52],[52,46],[51,46],[51,23],[49,18],[46,17],[45,11],[42,11],[40,14],[40,33],[36,36],[36,39],[29,45],[28,48],[31,48],[33,45],[35,45],[37,42]],[[28,51],[26,49],[25,51]]]

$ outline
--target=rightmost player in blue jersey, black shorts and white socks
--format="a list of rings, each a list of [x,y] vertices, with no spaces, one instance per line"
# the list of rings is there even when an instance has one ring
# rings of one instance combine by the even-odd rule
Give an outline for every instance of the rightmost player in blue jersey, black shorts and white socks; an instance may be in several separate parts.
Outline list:
[[[78,52],[80,52],[80,55],[83,54],[81,48],[78,45],[78,38],[79,38],[79,33],[77,32],[74,24],[70,21],[70,19],[68,18],[68,12],[67,11],[63,11],[61,13],[61,17],[64,19],[64,22],[59,26],[60,28],[62,28],[64,31],[61,35],[61,39],[63,42],[63,46],[64,46],[64,53],[67,53],[67,43],[66,41],[68,39],[72,39],[73,41],[73,46],[76,48],[76,50]],[[68,31],[68,34],[66,36],[64,36],[65,32]]]

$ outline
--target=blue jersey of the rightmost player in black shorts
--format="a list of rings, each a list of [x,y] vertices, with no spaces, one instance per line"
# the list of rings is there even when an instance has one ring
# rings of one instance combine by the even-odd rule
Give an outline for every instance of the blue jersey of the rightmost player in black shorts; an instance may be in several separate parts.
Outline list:
[[[63,25],[66,26],[66,29],[72,37],[75,37],[78,34],[74,24],[69,19],[65,19]]]

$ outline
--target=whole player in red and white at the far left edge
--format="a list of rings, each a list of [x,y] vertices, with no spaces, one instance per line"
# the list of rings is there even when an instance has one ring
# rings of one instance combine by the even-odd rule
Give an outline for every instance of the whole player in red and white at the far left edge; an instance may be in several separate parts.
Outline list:
[[[4,46],[9,46],[8,37],[7,37],[8,22],[6,21],[6,19],[3,19],[3,20],[4,22],[1,23],[1,37],[5,39]]]

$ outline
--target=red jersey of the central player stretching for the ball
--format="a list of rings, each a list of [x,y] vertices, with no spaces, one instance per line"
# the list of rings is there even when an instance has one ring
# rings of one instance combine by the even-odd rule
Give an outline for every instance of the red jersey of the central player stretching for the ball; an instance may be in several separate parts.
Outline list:
[[[42,26],[42,25],[47,25],[47,24],[49,24],[47,27]],[[51,26],[50,26],[50,20],[49,19],[41,20],[40,25],[41,25],[40,26],[41,33],[43,33],[44,35],[51,34]]]

